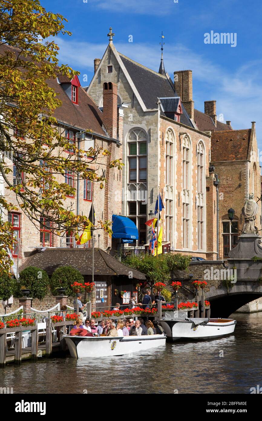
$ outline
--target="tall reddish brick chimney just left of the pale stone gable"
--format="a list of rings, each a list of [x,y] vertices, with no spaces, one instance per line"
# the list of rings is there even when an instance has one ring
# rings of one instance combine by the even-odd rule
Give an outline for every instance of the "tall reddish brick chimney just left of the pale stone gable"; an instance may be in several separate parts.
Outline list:
[[[103,83],[103,123],[111,139],[117,138],[117,85]]]

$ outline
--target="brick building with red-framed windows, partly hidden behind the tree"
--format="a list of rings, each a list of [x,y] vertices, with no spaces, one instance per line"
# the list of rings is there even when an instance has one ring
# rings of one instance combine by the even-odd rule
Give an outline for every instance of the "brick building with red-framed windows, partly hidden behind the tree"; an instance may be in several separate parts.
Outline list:
[[[7,49],[14,54],[18,51],[16,48],[2,45],[0,53],[5,53]],[[107,183],[105,189],[100,189],[99,182],[82,179],[79,181],[79,214],[89,215],[93,195],[96,221],[111,220],[112,214],[119,214],[121,212],[121,199],[115,200],[114,192],[121,189],[122,185],[121,172],[109,166],[111,160],[122,158],[123,108],[117,107],[115,87],[111,83],[104,84],[104,110],[102,113],[81,87],[77,76],[70,80],[58,74],[56,79],[48,80],[48,85],[54,89],[58,98],[62,101],[61,107],[58,107],[54,112],[54,117],[57,119],[56,130],[61,133],[61,136],[69,139],[70,144],[79,142],[80,148],[85,151],[90,147],[102,147],[111,152],[110,156],[100,154],[98,160],[94,163],[89,163],[92,158],[82,158],[89,163],[91,170],[97,171],[98,176],[102,176],[103,174],[106,176]],[[13,130],[11,130],[10,134],[13,135]],[[45,145],[43,145],[43,148],[45,148]],[[74,153],[71,150],[66,152],[62,148],[58,148],[55,152],[63,157]],[[20,184],[21,181],[26,183],[26,174],[22,174],[22,176],[17,174],[15,163],[11,160],[7,162],[10,168],[13,169],[8,175],[13,185]],[[45,165],[45,163],[40,162],[39,165]],[[62,175],[57,173],[56,178],[59,182],[67,183],[74,187],[74,195],[66,197],[65,207],[77,213],[77,174],[66,172]],[[21,264],[34,248],[74,247],[75,240],[73,234],[58,237],[46,227],[46,221],[40,221],[40,224],[36,224],[37,226],[35,226],[19,207],[15,193],[5,189],[3,182],[0,183],[0,186],[0,193],[5,196],[8,202],[18,207],[16,212],[4,214],[4,219],[8,219],[13,224],[13,239],[15,244],[13,257],[15,260],[18,257],[18,238],[21,240],[19,253]],[[112,197],[114,200],[112,200]],[[45,228],[43,228],[43,222],[45,223]],[[86,243],[87,247],[89,245]],[[95,231],[95,246],[98,245],[103,249],[111,247],[111,239],[103,229]]]

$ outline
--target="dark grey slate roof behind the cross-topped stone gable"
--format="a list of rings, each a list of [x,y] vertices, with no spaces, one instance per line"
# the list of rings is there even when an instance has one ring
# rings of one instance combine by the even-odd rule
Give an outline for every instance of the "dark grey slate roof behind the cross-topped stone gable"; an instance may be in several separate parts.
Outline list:
[[[177,96],[174,88],[165,75],[160,75],[121,53],[119,53],[119,56],[148,109],[157,108],[157,98]],[[193,127],[183,104],[182,109],[183,114],[180,116],[180,122],[189,127]],[[162,110],[161,115],[164,115]]]

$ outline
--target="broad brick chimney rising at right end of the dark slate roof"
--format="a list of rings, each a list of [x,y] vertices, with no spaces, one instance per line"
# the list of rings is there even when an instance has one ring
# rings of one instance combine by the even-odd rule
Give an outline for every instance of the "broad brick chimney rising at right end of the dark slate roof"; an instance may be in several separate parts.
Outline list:
[[[177,96],[180,96],[189,117],[194,120],[192,70],[174,72],[174,85]]]

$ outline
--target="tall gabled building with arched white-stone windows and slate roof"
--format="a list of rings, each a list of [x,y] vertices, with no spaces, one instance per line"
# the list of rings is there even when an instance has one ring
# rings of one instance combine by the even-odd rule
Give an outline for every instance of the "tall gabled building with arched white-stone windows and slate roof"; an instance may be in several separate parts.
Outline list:
[[[118,192],[122,215],[137,225],[138,246],[143,248],[150,238],[145,222],[160,189],[163,242],[169,250],[212,260],[217,257],[216,220],[221,206],[221,201],[217,205],[215,174],[210,167],[212,136],[234,133],[231,123],[217,119],[216,101],[205,101],[204,113],[194,109],[191,70],[175,71],[172,80],[162,58],[159,73],[154,72],[117,52],[113,35],[109,33],[109,37],[102,59],[94,60],[94,76],[86,89],[103,109],[103,83],[110,80],[117,86],[118,104],[127,107],[123,117],[125,166],[122,192]],[[236,160],[230,162],[235,166]],[[256,186],[259,182],[257,170]],[[224,195],[230,195],[228,200],[233,203],[232,192],[226,190],[227,181],[220,176],[220,192],[222,183]],[[223,218],[226,213],[220,210]]]

